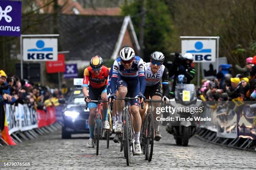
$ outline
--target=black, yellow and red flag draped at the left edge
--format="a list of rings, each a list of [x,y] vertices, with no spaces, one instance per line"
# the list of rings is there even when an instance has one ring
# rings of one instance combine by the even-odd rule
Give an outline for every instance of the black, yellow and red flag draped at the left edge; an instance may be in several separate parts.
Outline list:
[[[9,135],[8,124],[5,116],[5,106],[3,102],[0,102],[0,130],[1,137],[6,143],[8,143],[8,145],[17,145]]]

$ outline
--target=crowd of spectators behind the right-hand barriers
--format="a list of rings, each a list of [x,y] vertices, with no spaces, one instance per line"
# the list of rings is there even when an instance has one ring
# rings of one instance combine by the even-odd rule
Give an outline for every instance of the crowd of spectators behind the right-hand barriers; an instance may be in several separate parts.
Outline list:
[[[235,65],[234,71],[240,74],[233,76],[232,69],[230,64],[220,65],[216,78],[202,80],[199,90],[202,100],[254,101],[256,99],[256,56],[248,57],[244,67]]]

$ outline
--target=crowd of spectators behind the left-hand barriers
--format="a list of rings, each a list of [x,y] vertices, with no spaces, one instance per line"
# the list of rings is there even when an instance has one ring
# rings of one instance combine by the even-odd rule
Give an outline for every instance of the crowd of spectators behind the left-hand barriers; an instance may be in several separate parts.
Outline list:
[[[0,103],[18,105],[28,104],[36,110],[44,110],[47,106],[55,104],[56,99],[63,95],[59,89],[34,84],[26,79],[20,80],[18,76],[7,76],[0,70]]]

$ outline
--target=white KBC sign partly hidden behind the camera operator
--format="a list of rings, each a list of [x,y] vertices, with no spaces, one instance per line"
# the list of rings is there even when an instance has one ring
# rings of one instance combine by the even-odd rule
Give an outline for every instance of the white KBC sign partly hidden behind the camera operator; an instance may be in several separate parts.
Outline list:
[[[216,40],[182,40],[182,56],[194,56],[194,62],[215,62]]]

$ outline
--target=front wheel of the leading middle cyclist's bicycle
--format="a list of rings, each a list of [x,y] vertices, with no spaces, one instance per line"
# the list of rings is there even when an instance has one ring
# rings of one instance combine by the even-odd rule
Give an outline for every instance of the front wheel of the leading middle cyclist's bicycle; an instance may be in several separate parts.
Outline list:
[[[130,121],[129,121],[129,117],[128,114],[125,114],[125,123],[124,123],[124,127],[125,127],[125,143],[124,143],[124,148],[125,148],[125,158],[126,158],[126,164],[129,166],[130,164],[130,156],[131,156],[131,152],[130,152],[130,132],[129,132],[129,125],[130,125]]]

